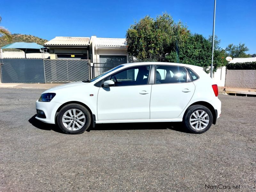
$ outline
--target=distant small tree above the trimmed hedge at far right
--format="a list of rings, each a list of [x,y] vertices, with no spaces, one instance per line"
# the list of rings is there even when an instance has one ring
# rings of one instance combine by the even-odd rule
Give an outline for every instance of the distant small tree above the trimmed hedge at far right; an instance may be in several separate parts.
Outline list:
[[[245,58],[250,57],[250,54],[246,54],[245,52],[249,51],[248,47],[245,46],[243,43],[239,43],[239,45],[229,44],[226,47],[226,52],[228,53],[228,56],[232,58]]]

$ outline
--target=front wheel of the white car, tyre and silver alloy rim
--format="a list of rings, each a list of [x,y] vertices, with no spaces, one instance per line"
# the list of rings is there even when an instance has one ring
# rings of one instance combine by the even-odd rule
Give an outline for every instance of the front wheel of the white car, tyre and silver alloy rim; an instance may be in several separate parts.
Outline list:
[[[62,107],[57,117],[61,131],[68,134],[85,132],[90,127],[91,121],[91,114],[88,109],[76,103]]]

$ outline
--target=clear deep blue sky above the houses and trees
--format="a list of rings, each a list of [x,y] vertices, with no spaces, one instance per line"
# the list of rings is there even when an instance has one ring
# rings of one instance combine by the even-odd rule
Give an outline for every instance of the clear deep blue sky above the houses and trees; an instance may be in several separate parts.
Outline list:
[[[1,26],[12,33],[44,39],[55,36],[124,38],[134,21],[163,12],[187,24],[192,33],[212,34],[214,0],[20,1],[1,0]],[[215,34],[220,46],[245,43],[256,53],[256,1],[217,0]]]

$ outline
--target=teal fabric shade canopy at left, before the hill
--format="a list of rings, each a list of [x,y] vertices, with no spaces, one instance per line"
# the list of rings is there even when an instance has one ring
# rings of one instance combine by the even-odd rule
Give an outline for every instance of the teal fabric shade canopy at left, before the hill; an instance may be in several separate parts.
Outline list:
[[[46,49],[46,47],[36,43],[16,42],[5,45],[2,49],[20,49],[25,53],[40,53],[40,50]]]

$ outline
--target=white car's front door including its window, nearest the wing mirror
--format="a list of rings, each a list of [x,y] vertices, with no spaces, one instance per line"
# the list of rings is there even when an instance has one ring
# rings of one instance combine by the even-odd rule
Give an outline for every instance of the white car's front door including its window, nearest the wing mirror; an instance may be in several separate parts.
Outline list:
[[[149,119],[151,84],[148,84],[150,66],[123,69],[103,81],[112,80],[113,87],[100,87],[98,93],[98,120]],[[102,81],[102,82],[103,82]]]

